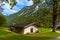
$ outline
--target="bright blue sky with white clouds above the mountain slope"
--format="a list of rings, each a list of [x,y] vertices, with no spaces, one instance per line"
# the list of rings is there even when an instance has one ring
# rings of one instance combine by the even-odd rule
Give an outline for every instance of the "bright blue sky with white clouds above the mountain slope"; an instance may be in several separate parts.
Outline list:
[[[16,0],[17,4],[13,7],[13,9],[10,9],[11,6],[8,3],[5,3],[4,5],[4,11],[2,12],[2,14],[4,15],[10,15],[13,13],[16,13],[18,11],[20,11],[24,6],[30,6],[33,4],[33,1],[27,1],[27,0]]]

